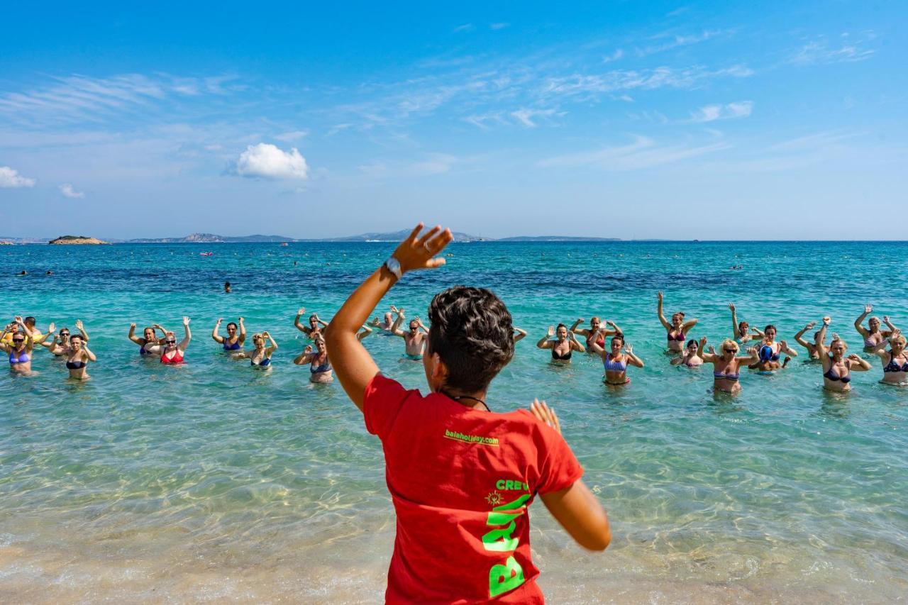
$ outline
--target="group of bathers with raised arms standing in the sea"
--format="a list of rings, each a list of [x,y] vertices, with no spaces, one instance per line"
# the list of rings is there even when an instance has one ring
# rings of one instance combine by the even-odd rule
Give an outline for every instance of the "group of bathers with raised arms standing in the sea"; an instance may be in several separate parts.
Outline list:
[[[735,304],[728,305],[731,312],[732,335],[720,342],[718,349],[707,346],[706,337],[690,338],[689,334],[697,324],[696,319],[688,319],[684,312],[675,312],[666,318],[663,294],[656,295],[656,315],[666,330],[666,349],[672,355],[671,365],[695,368],[703,364],[713,365],[713,386],[716,392],[735,394],[741,391],[741,373],[746,368],[758,373],[775,373],[785,369],[792,357],[798,352],[789,347],[785,340],[776,340],[775,325],[766,325],[763,330],[751,327],[748,322],[738,321]],[[331,361],[325,345],[324,330],[329,322],[322,320],[318,313],[311,313],[306,322],[302,322],[306,310],[301,308],[293,322],[312,344],[297,355],[293,362],[297,365],[310,366],[311,382],[331,382]],[[881,382],[893,385],[908,385],[908,353],[905,352],[905,336],[883,315],[880,318],[868,315],[873,307],[866,305],[864,312],[854,321],[854,328],[864,342],[864,352],[878,356],[883,364]],[[864,327],[864,321],[867,326]],[[851,389],[851,373],[867,372],[872,369],[870,362],[856,353],[847,353],[848,345],[833,332],[827,344],[827,331],[830,317],[822,320],[819,330],[814,332],[813,341],[805,340],[804,335],[814,329],[816,322],[807,323],[795,334],[797,342],[806,351],[811,361],[819,362],[823,368],[825,388],[832,391]],[[634,353],[633,346],[627,342],[624,330],[615,322],[602,321],[592,317],[589,327],[580,327],[586,320],[578,318],[569,328],[565,323],[550,326],[548,332],[537,342],[539,349],[551,352],[551,362],[569,363],[573,353],[588,352],[597,355],[603,363],[603,382],[609,387],[620,387],[629,384],[628,369],[633,366],[643,368],[644,362]],[[406,330],[404,324],[406,323]],[[156,359],[163,364],[179,364],[185,361],[186,349],[192,341],[190,318],[183,317],[183,339],[177,340],[176,333],[163,328],[158,323],[146,327],[142,336],[135,333],[136,324],[129,328],[129,340],[139,345],[139,355],[143,358]],[[883,329],[883,326],[885,329]],[[89,336],[83,322],[75,322],[77,332],[61,328],[55,332],[54,323],[48,326],[45,333],[35,328],[34,317],[16,316],[14,322],[5,326],[0,334],[0,350],[9,356],[10,369],[17,373],[32,373],[31,363],[35,345],[41,345],[55,357],[64,358],[69,377],[85,380],[88,375],[88,364],[96,362],[97,357],[88,346]],[[419,360],[425,352],[429,328],[419,319],[413,317],[407,321],[403,308],[391,305],[390,311],[383,317],[374,317],[364,324],[357,338],[361,341],[373,332],[378,331],[390,336],[399,336],[404,341],[403,357],[408,360]],[[271,369],[271,356],[278,349],[277,342],[269,332],[252,334],[252,348],[245,347],[246,327],[243,318],[228,322],[222,333],[222,320],[214,324],[212,340],[222,346],[224,352],[233,359],[248,359],[252,367],[262,370]],[[514,342],[527,335],[520,328],[514,328]],[[887,349],[888,346],[888,349]]]

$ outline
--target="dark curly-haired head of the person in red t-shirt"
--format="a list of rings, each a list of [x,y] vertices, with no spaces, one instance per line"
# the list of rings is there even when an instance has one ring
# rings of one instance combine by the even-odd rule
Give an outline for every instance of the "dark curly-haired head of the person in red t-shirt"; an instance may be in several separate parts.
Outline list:
[[[429,354],[448,367],[446,385],[480,392],[514,356],[514,325],[504,302],[485,288],[454,286],[429,304]]]

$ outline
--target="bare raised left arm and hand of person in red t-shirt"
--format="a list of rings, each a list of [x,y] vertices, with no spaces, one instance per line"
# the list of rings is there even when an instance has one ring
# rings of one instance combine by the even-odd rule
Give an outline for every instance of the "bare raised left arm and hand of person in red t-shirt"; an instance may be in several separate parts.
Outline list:
[[[419,223],[394,251],[393,258],[400,263],[401,274],[418,269],[433,269],[445,263],[444,258],[432,257],[453,239],[450,230],[442,231],[441,227],[436,226],[419,237],[421,230],[422,223]],[[350,294],[350,298],[343,303],[331,320],[331,325],[325,330],[325,343],[331,352],[334,375],[360,412],[366,387],[379,372],[379,367],[357,339],[356,332],[396,282],[394,273],[386,265],[382,265]]]

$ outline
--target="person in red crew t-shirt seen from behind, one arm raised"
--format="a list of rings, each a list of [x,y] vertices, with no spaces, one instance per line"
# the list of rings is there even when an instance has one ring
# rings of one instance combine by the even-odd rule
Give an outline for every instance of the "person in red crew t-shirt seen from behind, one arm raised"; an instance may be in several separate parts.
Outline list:
[[[587,549],[605,549],[611,531],[555,412],[545,402],[492,412],[485,401],[514,355],[508,308],[489,290],[466,286],[432,299],[425,397],[382,376],[356,337],[404,273],[445,263],[433,257],[450,231],[436,226],[420,237],[422,227],[350,295],[325,333],[335,375],[385,452],[397,512],[385,599],[541,603],[529,550],[536,494]]]

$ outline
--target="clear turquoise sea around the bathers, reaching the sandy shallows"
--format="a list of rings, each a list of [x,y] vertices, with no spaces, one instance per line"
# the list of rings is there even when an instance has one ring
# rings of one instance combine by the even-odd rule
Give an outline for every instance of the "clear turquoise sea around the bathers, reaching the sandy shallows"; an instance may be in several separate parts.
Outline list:
[[[214,255],[202,258],[199,252]],[[380,445],[340,385],[311,385],[292,357],[305,305],[330,318],[392,246],[345,244],[15,246],[0,248],[0,313],[74,327],[99,362],[64,379],[38,352],[37,375],[0,378],[0,600],[380,599],[393,514]],[[529,336],[493,383],[495,410],[533,397],[557,408],[615,541],[587,555],[540,506],[534,556],[553,602],[863,600],[908,590],[908,389],[873,371],[854,392],[822,389],[795,359],[745,375],[734,401],[708,392],[708,370],[670,367],[666,312],[699,318],[718,342],[739,318],[794,341],[872,302],[908,326],[908,243],[469,243],[449,264],[413,273],[388,301],[423,314],[454,283],[494,289]],[[298,264],[294,265],[296,261]],[[741,271],[728,269],[742,264]],[[14,277],[23,269],[34,276]],[[47,269],[53,277],[45,278]],[[224,280],[233,293],[221,293]],[[143,362],[130,322],[180,333],[188,363]],[[548,325],[614,320],[646,368],[619,392],[601,363],[548,363]],[[280,345],[272,372],[219,352],[218,317],[242,315]],[[399,339],[365,341],[383,372],[423,388]],[[794,344],[793,344],[794,346]]]

